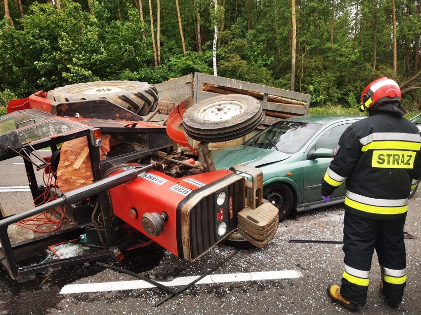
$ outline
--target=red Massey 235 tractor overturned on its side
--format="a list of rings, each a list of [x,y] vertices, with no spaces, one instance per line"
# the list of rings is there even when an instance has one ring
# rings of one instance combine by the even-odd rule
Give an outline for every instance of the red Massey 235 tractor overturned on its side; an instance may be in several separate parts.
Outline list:
[[[158,96],[147,84],[127,96],[136,84],[119,86],[124,93],[110,83],[72,86],[82,91],[77,100],[41,91],[10,102],[9,114],[0,117],[0,160],[23,158],[35,206],[0,212],[0,263],[11,278],[108,257],[120,261],[151,242],[195,261],[224,240],[262,247],[273,238],[278,210],[262,202],[261,171],[244,165],[215,171],[206,142],[189,148],[198,156],[185,154],[188,143],[177,145],[166,126],[137,115],[155,110]],[[108,92],[120,93],[129,106],[107,98]],[[261,119],[261,109],[253,117]],[[41,156],[44,148],[51,154]],[[48,180],[40,184],[37,172]],[[22,222],[41,213],[58,217],[60,225],[48,233],[34,229],[29,239],[15,237]],[[78,255],[23,259],[28,248],[75,239],[83,240]]]

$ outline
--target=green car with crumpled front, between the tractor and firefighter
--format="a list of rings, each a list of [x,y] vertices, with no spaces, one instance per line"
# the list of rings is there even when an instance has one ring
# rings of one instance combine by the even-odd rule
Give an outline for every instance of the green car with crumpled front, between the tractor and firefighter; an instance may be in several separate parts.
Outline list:
[[[321,179],[337,142],[352,123],[364,116],[301,116],[279,121],[242,145],[212,152],[217,169],[243,163],[263,171],[263,198],[279,209],[279,220],[294,208],[304,211],[342,203],[345,185],[326,203]]]

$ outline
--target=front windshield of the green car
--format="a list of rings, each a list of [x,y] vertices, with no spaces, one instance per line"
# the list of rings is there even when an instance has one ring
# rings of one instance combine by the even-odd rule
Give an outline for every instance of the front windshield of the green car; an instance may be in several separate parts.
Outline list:
[[[314,123],[280,121],[243,144],[284,153],[295,153],[321,127],[322,125]]]

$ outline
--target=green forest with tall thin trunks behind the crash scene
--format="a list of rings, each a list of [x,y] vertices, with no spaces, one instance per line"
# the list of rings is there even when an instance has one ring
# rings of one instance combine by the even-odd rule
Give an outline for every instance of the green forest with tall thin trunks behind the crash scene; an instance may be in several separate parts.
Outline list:
[[[215,26],[218,75],[308,93],[310,113],[357,113],[380,76],[421,109],[421,0],[2,1],[0,113],[66,84],[213,74]]]

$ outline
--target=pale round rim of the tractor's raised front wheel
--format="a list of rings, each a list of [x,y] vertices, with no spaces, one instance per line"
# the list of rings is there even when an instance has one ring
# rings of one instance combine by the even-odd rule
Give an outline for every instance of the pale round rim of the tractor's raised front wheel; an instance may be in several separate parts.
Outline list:
[[[203,107],[198,112],[198,117],[207,121],[228,120],[242,114],[246,107],[237,101],[220,101]]]

